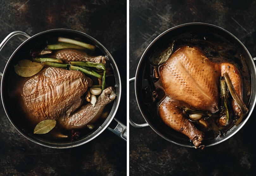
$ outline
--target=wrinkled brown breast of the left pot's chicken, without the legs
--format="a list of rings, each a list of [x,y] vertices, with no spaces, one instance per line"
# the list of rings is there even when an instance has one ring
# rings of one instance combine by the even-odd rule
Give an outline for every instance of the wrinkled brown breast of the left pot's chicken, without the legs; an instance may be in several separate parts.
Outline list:
[[[23,86],[23,99],[34,119],[57,119],[81,106],[82,95],[92,80],[80,71],[49,67]]]

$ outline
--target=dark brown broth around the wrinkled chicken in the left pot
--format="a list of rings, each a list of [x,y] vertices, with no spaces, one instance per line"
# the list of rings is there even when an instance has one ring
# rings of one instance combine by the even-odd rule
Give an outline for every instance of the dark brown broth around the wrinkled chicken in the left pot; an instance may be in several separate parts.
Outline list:
[[[67,36],[65,36],[65,37],[67,37]],[[30,59],[31,51],[42,50],[46,47],[46,45],[49,41],[54,42],[55,40],[56,40],[55,38],[50,38],[50,39],[45,39],[44,41],[41,41],[40,43],[34,43],[34,45],[32,44],[31,46],[34,46],[34,48],[27,48],[27,50],[22,52],[21,55],[16,60]],[[104,55],[97,47],[94,52],[90,52],[89,50],[86,50],[85,52],[87,52],[91,56]],[[107,58],[107,56],[106,56],[106,58]],[[109,65],[109,66],[111,68],[111,65]],[[89,129],[87,127],[84,127],[83,129],[74,130],[74,131],[64,129],[63,127],[61,127],[58,124],[58,121],[57,121],[56,126],[50,132],[48,132],[46,134],[33,134],[34,127],[36,126],[36,124],[38,122],[35,123],[28,118],[28,115],[26,114],[26,112],[24,110],[25,108],[21,104],[22,85],[28,79],[29,79],[29,77],[26,78],[26,77],[18,76],[15,73],[14,69],[12,68],[10,75],[9,75],[9,80],[11,80],[11,81],[8,82],[8,96],[9,96],[11,109],[13,111],[13,114],[15,115],[14,120],[16,121],[17,125],[20,126],[25,133],[29,133],[30,135],[36,135],[37,138],[41,138],[42,140],[47,140],[47,141],[51,141],[51,142],[60,142],[60,143],[70,142],[72,140],[71,136],[74,132],[79,133],[78,139],[80,139],[84,136],[87,136],[87,135],[93,133],[105,121],[105,118],[100,117],[99,119],[97,119],[96,122],[93,123],[94,129]],[[106,85],[107,86],[115,87],[115,84],[116,83],[115,83],[114,76],[106,77]],[[84,103],[86,103],[86,102],[84,101]],[[109,115],[109,112],[111,111],[112,106],[113,106],[113,102],[106,105],[103,110],[103,114],[104,114],[104,112],[107,112]],[[64,137],[64,136],[67,136],[67,137]],[[74,138],[74,140],[76,140],[76,139]]]

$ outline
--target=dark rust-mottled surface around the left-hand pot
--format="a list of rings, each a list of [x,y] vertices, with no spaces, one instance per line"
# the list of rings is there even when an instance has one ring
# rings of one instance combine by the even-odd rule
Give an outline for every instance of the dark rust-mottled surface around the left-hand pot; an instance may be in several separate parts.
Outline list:
[[[10,32],[31,35],[53,28],[74,29],[101,42],[111,53],[122,80],[116,118],[126,124],[127,3],[118,0],[1,0],[0,41]],[[15,37],[0,53],[0,71],[23,37]],[[0,175],[126,175],[127,143],[109,130],[71,149],[51,149],[21,136],[0,105]]]

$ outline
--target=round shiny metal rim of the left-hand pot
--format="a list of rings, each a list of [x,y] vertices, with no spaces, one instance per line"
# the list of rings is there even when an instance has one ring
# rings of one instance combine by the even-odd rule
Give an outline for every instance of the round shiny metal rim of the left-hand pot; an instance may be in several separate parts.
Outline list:
[[[87,135],[86,137],[82,137],[81,139],[77,140],[77,141],[73,141],[73,142],[65,142],[65,143],[54,143],[54,142],[47,142],[47,141],[43,141],[43,140],[40,140],[37,138],[37,140],[35,140],[34,138],[36,137],[33,137],[33,135],[28,135],[28,134],[25,134],[21,129],[19,129],[19,127],[13,122],[12,118],[10,117],[10,114],[8,112],[8,109],[7,109],[7,106],[5,104],[5,100],[4,100],[4,93],[3,93],[3,88],[4,88],[4,85],[3,85],[3,82],[5,82],[4,80],[8,78],[6,78],[6,75],[7,73],[7,70],[9,69],[9,67],[11,66],[10,65],[10,62],[11,60],[13,59],[13,57],[15,56],[15,54],[20,50],[20,48],[25,45],[26,43],[30,42],[30,40],[40,36],[40,35],[43,35],[43,34],[46,34],[46,33],[52,33],[52,32],[64,32],[64,33],[71,33],[71,34],[77,34],[79,36],[81,36],[82,38],[84,39],[88,39],[90,40],[91,43],[93,43],[94,45],[96,45],[96,47],[98,47],[101,52],[103,52],[105,54],[105,56],[107,56],[107,58],[110,60],[111,62],[111,66],[115,72],[115,82],[116,82],[116,86],[115,86],[115,89],[116,89],[116,99],[114,100],[114,103],[113,103],[113,106],[112,106],[112,109],[109,113],[109,116],[105,119],[105,121],[103,122],[103,124],[101,124],[99,126],[99,128],[97,130],[95,130],[93,133]],[[58,29],[50,29],[50,30],[46,30],[46,31],[43,31],[43,32],[40,32],[40,33],[37,33],[33,36],[31,36],[30,38],[26,39],[24,42],[22,42],[22,44],[20,44],[16,49],[15,51],[12,53],[12,55],[10,56],[10,58],[8,59],[7,61],[7,64],[5,65],[5,68],[4,68],[4,71],[3,71],[3,75],[2,75],[2,80],[1,80],[1,96],[2,96],[2,103],[3,103],[3,108],[4,108],[4,111],[9,119],[9,121],[11,122],[11,124],[16,128],[16,130],[22,134],[22,136],[24,136],[25,138],[27,138],[28,140],[34,142],[34,143],[37,143],[41,146],[45,146],[45,147],[49,147],[49,148],[72,148],[72,147],[77,147],[77,146],[80,146],[80,145],[83,145],[85,143],[88,143],[90,142],[91,140],[93,140],[94,138],[96,138],[98,135],[100,135],[106,128],[108,128],[109,124],[112,122],[113,118],[115,117],[116,115],[116,112],[118,110],[118,106],[119,106],[119,103],[120,103],[120,100],[121,100],[121,77],[120,77],[120,73],[119,73],[119,70],[117,68],[117,65],[116,65],[116,62],[114,60],[114,58],[112,57],[112,55],[109,53],[109,51],[96,39],[94,39],[93,37],[91,37],[90,35],[86,34],[86,33],[83,33],[83,32],[80,32],[80,31],[77,31],[77,30],[72,30],[72,29],[65,29],[65,28],[58,28]],[[86,140],[85,140],[86,139]]]

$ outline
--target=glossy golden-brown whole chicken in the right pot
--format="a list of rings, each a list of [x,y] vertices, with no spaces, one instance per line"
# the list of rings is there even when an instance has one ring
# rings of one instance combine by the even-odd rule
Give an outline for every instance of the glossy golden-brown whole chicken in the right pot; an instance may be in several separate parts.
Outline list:
[[[233,64],[211,62],[196,47],[179,48],[161,66],[159,72],[166,92],[166,97],[159,106],[159,115],[165,124],[189,137],[196,147],[202,144],[203,132],[184,117],[180,107],[212,113],[218,111],[219,81],[223,73],[228,73],[242,101],[239,70]],[[241,110],[234,100],[232,106],[240,116]]]

